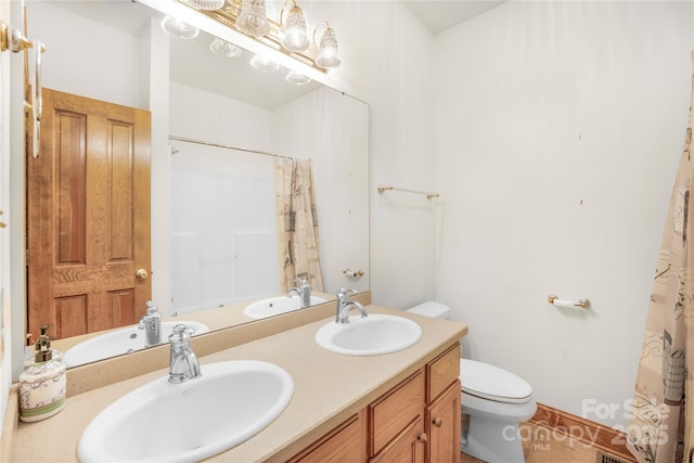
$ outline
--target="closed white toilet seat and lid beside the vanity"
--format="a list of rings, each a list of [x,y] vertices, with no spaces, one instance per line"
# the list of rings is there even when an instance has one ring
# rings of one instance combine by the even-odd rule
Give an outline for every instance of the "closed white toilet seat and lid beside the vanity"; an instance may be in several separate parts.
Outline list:
[[[525,380],[475,360],[460,359],[460,382],[463,393],[497,402],[526,403],[532,395]]]

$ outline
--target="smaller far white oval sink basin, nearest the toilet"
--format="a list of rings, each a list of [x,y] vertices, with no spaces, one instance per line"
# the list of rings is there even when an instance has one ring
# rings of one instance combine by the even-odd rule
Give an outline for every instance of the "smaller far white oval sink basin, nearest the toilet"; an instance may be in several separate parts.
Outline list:
[[[354,316],[344,324],[332,321],[316,333],[319,346],[347,356],[397,352],[414,345],[421,337],[422,327],[412,320],[381,313],[367,318]]]

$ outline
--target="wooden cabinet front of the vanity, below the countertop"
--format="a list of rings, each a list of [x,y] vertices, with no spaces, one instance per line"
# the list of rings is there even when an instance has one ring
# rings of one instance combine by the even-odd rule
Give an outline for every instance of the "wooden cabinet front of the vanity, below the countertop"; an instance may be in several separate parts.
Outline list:
[[[460,461],[459,357],[455,343],[290,462]]]

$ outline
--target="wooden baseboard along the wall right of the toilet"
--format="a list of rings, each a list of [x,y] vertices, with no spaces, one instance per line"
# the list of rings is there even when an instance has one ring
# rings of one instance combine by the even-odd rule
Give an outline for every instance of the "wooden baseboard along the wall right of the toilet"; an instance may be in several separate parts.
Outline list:
[[[627,436],[612,427],[543,403],[538,403],[538,411],[529,421],[594,446],[628,462],[637,463],[637,459],[627,450]]]

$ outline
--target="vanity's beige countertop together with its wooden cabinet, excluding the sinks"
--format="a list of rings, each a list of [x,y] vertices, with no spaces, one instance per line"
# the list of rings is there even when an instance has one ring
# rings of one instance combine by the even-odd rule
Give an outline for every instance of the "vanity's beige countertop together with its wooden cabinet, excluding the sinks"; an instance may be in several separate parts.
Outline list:
[[[457,461],[459,340],[467,326],[375,305],[367,306],[367,310],[416,321],[422,338],[412,347],[383,356],[331,352],[314,340],[316,332],[334,318],[334,305],[327,304],[314,309],[313,321],[306,324],[201,355],[203,375],[208,363],[260,360],[281,366],[294,381],[294,395],[278,419],[208,461]],[[250,336],[241,329],[236,336]],[[118,360],[129,357],[137,361],[134,356]],[[105,364],[87,366],[99,374]],[[16,410],[10,407],[0,456],[8,461],[77,461],[77,442],[97,414],[129,391],[167,374],[168,369],[158,369],[91,390],[85,388],[80,394],[70,393],[68,386],[65,410],[39,423],[17,424]],[[10,400],[16,400],[16,396],[11,395]]]

